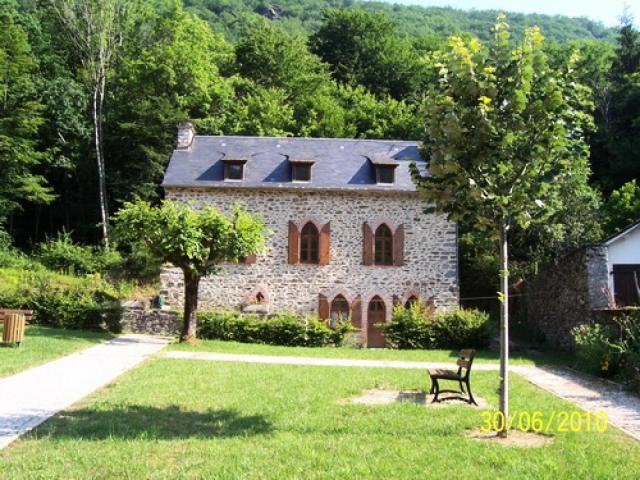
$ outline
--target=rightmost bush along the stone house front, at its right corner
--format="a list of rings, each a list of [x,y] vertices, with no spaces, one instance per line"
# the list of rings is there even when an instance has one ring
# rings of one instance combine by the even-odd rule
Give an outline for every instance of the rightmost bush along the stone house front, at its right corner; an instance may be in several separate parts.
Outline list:
[[[433,322],[438,348],[483,348],[489,345],[489,315],[462,308],[438,313]]]

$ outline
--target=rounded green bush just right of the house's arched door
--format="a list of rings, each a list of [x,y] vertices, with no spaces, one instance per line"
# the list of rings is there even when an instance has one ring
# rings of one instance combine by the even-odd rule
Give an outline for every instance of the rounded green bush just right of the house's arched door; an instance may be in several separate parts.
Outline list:
[[[419,302],[409,308],[397,305],[391,322],[383,326],[387,341],[394,348],[434,348],[433,316]]]

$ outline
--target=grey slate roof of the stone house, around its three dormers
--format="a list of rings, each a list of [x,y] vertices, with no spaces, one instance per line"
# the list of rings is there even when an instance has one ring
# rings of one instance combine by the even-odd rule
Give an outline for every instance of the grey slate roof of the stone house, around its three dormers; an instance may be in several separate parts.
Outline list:
[[[174,150],[164,187],[275,188],[302,190],[415,191],[409,164],[425,171],[418,142],[333,138],[196,136]],[[244,180],[224,180],[224,159],[247,158]],[[313,161],[310,182],[292,182],[292,161]],[[397,162],[393,185],[376,184],[373,161]]]

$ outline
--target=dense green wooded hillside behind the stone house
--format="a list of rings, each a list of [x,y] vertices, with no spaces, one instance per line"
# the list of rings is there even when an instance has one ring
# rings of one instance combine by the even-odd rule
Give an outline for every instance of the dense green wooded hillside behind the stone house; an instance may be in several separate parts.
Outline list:
[[[447,37],[489,40],[497,15],[353,0],[130,3],[105,79],[110,212],[137,197],[162,197],[180,120],[203,134],[423,138],[424,97],[438,83]],[[574,165],[556,189],[562,201],[552,202],[553,213],[526,231],[511,229],[512,273],[526,279],[538,265],[638,219],[629,182],[640,177],[640,36],[629,21],[617,31],[544,15],[509,14],[508,22],[516,41],[540,27],[543,71],[575,81],[568,93],[581,100],[572,107],[595,118],[595,129],[583,132],[593,175],[585,162]],[[0,23],[0,224],[24,249],[62,230],[96,244],[86,58],[51,2],[0,0]],[[494,240],[474,222],[460,232],[462,296],[494,296]],[[81,262],[76,248],[54,246],[53,268],[102,268]],[[149,256],[129,242],[118,248],[125,270],[152,276],[157,263]]]

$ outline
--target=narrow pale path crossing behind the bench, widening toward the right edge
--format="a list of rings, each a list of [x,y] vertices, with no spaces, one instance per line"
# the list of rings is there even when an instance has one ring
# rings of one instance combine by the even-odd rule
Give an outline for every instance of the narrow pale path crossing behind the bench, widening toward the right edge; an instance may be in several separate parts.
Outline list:
[[[402,362],[392,360],[354,360],[342,358],[287,357],[272,355],[242,355],[215,352],[167,352],[165,357],[215,362],[266,363],[278,365],[311,365],[324,367],[377,368],[451,368],[451,363]],[[497,371],[497,364],[474,363],[474,370]],[[533,365],[512,365],[517,373],[534,385],[573,402],[583,410],[596,414],[604,411],[611,425],[640,440],[640,398],[625,393],[616,384],[587,378],[567,370]]]

